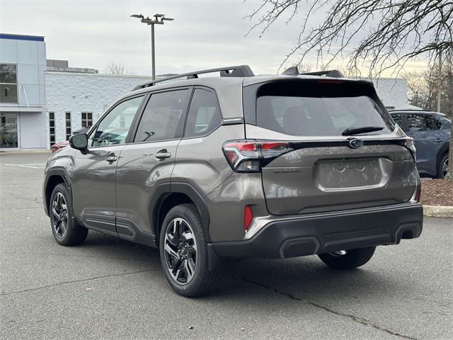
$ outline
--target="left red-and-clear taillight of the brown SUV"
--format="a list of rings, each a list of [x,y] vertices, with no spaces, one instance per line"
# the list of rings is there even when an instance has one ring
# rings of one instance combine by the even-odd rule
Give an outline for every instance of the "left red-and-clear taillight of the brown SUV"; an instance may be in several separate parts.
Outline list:
[[[226,160],[236,172],[259,172],[265,163],[294,150],[289,142],[226,142],[223,146]]]

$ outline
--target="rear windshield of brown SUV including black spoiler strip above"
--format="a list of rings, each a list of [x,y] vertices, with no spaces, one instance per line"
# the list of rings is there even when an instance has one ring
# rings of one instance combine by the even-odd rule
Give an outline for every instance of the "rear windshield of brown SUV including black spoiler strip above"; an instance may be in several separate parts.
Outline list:
[[[346,128],[377,126],[382,135],[394,126],[371,86],[343,81],[292,81],[265,84],[257,91],[256,125],[293,136],[336,136]],[[365,135],[365,134],[362,134]]]

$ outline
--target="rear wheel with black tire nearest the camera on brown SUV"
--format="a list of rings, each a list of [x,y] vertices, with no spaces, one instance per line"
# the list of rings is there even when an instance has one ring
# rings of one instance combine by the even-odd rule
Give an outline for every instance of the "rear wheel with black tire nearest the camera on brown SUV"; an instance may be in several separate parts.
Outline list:
[[[178,235],[173,232],[175,229],[178,230]],[[189,235],[188,238],[183,236],[184,232],[185,235]],[[185,245],[180,245],[184,242]],[[166,250],[166,245],[171,249]],[[187,247],[184,248],[185,246]],[[195,205],[177,205],[167,213],[161,226],[159,251],[165,277],[176,293],[196,297],[206,295],[215,288],[219,273],[208,270],[205,233],[200,213]],[[192,263],[192,266],[189,266],[189,263]],[[193,263],[195,270],[192,270]],[[190,271],[191,276],[188,275]],[[184,280],[186,282],[183,282]]]

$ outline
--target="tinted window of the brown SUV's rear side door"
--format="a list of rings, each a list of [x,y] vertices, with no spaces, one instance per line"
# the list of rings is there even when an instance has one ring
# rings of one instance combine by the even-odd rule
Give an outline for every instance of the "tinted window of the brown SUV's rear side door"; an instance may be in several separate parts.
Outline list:
[[[182,136],[189,90],[152,94],[134,142],[172,140]]]

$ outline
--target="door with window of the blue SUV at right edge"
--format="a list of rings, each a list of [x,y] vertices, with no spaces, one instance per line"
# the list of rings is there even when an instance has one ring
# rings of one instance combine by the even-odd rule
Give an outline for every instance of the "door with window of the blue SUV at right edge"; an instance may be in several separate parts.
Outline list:
[[[406,115],[408,131],[406,134],[413,137],[417,149],[418,171],[435,176],[437,174],[437,153],[442,147],[440,130],[442,123],[433,115],[409,113]]]

